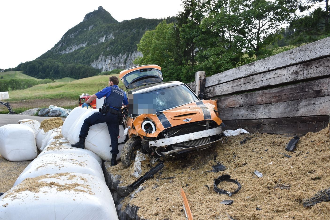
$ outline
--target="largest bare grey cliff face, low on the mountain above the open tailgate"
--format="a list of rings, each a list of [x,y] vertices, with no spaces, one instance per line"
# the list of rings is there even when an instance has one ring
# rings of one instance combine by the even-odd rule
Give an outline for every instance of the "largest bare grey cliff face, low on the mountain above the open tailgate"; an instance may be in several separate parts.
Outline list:
[[[97,69],[102,69],[102,71],[111,71],[114,69],[128,69],[136,66],[133,61],[139,57],[143,56],[140,51],[134,51],[131,53],[119,54],[119,56],[99,56],[97,60],[91,63],[91,66]]]

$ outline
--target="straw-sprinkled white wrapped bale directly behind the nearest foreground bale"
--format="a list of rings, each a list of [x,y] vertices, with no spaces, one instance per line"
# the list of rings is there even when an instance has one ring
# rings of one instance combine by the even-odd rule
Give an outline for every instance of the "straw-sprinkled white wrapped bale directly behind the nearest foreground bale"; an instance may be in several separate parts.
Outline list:
[[[53,173],[85,173],[104,180],[99,162],[83,152],[49,153],[34,159],[18,176],[14,186],[26,178]]]

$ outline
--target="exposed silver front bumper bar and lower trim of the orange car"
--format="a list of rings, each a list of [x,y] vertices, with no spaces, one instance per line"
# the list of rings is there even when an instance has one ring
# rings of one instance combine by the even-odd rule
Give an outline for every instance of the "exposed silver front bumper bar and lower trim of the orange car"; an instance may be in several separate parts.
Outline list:
[[[209,146],[215,142],[221,141],[222,136],[220,136],[220,138],[215,141],[199,144],[196,146],[186,146],[186,147],[182,147],[179,149],[170,150],[167,152],[160,153],[160,152],[158,152],[158,149],[162,146],[180,144],[180,143],[186,142],[186,141],[193,141],[193,140],[197,140],[197,139],[201,139],[201,138],[211,137],[214,135],[220,135],[221,133],[222,133],[222,128],[216,127],[216,128],[212,128],[212,129],[208,129],[208,130],[204,130],[204,131],[198,131],[198,132],[194,132],[194,133],[190,133],[190,134],[179,135],[179,136],[170,137],[170,138],[163,138],[163,139],[159,139],[156,141],[149,141],[149,146],[156,146],[157,147],[156,153],[159,156],[171,156],[173,153],[177,153],[180,151],[200,150],[200,149],[206,148],[205,146]]]

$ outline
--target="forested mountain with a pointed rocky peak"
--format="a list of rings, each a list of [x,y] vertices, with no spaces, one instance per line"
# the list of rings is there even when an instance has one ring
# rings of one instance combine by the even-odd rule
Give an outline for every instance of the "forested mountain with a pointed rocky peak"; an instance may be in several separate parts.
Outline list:
[[[175,17],[168,18],[168,21],[175,21]],[[142,17],[118,22],[99,7],[68,30],[49,51],[33,61],[21,63],[6,71],[23,71],[24,74],[39,79],[82,79],[95,76],[102,70],[91,64],[100,55],[116,57],[122,54],[125,63],[129,54],[137,51],[137,44],[145,31],[153,30],[159,22],[160,19]],[[112,69],[106,71],[110,70]]]

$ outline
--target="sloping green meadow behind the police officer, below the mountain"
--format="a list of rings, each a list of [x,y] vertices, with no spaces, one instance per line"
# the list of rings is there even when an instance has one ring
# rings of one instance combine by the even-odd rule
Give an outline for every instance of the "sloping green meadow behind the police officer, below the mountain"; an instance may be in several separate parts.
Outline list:
[[[119,76],[114,74],[111,76]],[[33,87],[9,91],[10,99],[6,101],[36,100],[36,99],[66,99],[78,100],[79,95],[88,93],[90,95],[108,86],[109,76],[95,76],[67,82],[52,82],[39,84]],[[119,81],[120,88],[124,85]]]

